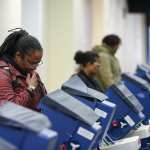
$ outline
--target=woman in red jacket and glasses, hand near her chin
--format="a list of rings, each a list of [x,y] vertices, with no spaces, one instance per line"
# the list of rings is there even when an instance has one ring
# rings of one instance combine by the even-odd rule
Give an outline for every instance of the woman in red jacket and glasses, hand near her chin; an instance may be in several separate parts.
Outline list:
[[[35,71],[43,49],[25,30],[11,30],[0,46],[0,101],[12,101],[37,110],[46,89]]]

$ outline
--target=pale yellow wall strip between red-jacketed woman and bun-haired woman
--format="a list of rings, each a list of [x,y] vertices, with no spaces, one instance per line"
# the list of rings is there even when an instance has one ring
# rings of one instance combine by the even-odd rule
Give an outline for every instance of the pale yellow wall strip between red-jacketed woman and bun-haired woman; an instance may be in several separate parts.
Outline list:
[[[47,0],[44,4],[44,46],[47,87],[56,89],[73,73],[73,1]]]

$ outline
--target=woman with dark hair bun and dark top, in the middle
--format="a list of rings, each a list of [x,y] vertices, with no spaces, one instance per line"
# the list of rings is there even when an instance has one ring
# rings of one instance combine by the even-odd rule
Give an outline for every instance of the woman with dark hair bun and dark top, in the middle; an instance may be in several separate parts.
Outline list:
[[[92,89],[101,91],[101,88],[95,79],[95,75],[100,66],[99,56],[93,51],[77,51],[74,60],[79,65],[77,75],[80,79]]]

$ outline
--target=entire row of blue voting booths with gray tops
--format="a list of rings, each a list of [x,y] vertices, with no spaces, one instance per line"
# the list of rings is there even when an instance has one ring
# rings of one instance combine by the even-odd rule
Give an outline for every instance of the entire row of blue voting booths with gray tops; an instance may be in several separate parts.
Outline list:
[[[74,75],[38,108],[1,103],[0,149],[150,150],[149,66],[123,73],[105,93]]]

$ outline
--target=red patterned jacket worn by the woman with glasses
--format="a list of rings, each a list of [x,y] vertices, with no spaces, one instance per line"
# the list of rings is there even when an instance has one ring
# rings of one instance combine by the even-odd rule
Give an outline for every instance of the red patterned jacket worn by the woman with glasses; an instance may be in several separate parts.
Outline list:
[[[37,110],[37,104],[44,95],[46,90],[40,78],[38,87],[31,93],[27,90],[26,76],[11,64],[0,60],[0,101],[8,100]]]

